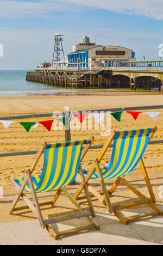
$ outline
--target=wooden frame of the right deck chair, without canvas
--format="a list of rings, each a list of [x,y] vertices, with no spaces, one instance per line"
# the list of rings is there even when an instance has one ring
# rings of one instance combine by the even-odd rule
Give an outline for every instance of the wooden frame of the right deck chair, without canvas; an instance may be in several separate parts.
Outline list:
[[[156,128],[156,126],[154,126],[153,129],[152,129],[151,134],[149,135],[149,141],[153,137],[156,130],[157,130],[157,128]],[[154,192],[153,192],[153,189],[152,189],[151,182],[149,181],[147,170],[146,170],[145,164],[143,163],[142,158],[141,158],[139,163],[140,163],[140,167],[141,167],[141,170],[142,170],[142,173],[143,173],[143,176],[144,176],[144,179],[145,179],[148,191],[149,191],[150,198],[147,198],[139,190],[137,190],[137,188],[133,187],[126,179],[124,179],[124,176],[123,177],[122,176],[118,177],[116,179],[116,181],[114,182],[114,184],[112,185],[112,187],[110,188],[110,190],[109,191],[106,190],[105,182],[104,182],[104,179],[103,179],[101,168],[99,167],[99,163],[101,162],[104,154],[106,153],[106,150],[108,149],[109,145],[113,141],[115,135],[116,135],[116,132],[111,131],[111,134],[109,136],[108,141],[106,141],[106,143],[104,144],[101,152],[99,153],[98,157],[94,160],[94,163],[92,164],[91,169],[89,170],[89,172],[87,173],[87,175],[85,177],[87,187],[88,187],[89,191],[91,192],[90,196],[91,197],[96,197],[99,201],[101,201],[109,209],[109,212],[110,213],[113,212],[114,215],[123,224],[127,224],[130,221],[139,220],[140,218],[144,218],[144,217],[149,217],[149,216],[158,215],[158,214],[162,215],[163,212],[154,204],[156,202]],[[102,192],[97,192],[95,190],[95,188],[93,188],[88,183],[90,178],[91,178],[91,175],[93,174],[95,169],[97,170],[98,178],[99,178],[99,181],[101,183]],[[126,185],[140,199],[136,200],[136,201],[134,200],[130,203],[121,202],[119,205],[116,205],[116,206],[111,205],[109,197],[116,190],[116,188],[120,184],[120,182],[122,182],[124,185]],[[85,196],[80,196],[79,197],[79,194],[82,192],[82,190],[83,190],[83,186],[80,185],[78,190],[74,194],[74,198],[76,198],[77,200],[85,199]],[[148,211],[145,214],[138,214],[138,215],[131,216],[131,217],[124,217],[123,214],[121,213],[121,210],[123,210],[123,209],[129,209],[129,208],[132,208],[132,207],[135,207],[135,206],[140,206],[140,205],[143,205],[143,204],[147,204],[148,206],[150,206],[153,209],[153,211]]]

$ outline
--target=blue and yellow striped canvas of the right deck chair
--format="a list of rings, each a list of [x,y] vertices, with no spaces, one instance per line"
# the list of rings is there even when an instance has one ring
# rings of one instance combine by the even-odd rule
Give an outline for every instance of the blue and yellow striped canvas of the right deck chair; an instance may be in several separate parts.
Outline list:
[[[151,132],[151,128],[116,132],[109,166],[101,166],[103,179],[118,178],[130,173],[145,152]],[[89,170],[83,170],[85,176]],[[98,180],[96,170],[90,179]]]

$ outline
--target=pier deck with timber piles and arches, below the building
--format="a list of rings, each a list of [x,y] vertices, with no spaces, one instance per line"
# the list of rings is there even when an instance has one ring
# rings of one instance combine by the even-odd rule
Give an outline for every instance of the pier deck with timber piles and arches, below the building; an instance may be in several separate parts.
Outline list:
[[[100,68],[36,68],[27,72],[27,81],[70,88],[158,88],[163,93],[163,70],[159,68],[100,67]]]

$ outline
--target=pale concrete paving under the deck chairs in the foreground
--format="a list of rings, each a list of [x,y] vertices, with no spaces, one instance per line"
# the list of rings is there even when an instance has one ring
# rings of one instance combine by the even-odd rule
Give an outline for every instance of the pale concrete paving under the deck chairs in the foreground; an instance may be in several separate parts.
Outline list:
[[[163,206],[160,206],[163,210]],[[145,209],[143,209],[144,211]],[[148,208],[146,209],[148,210]],[[140,212],[125,211],[126,216]],[[54,240],[39,221],[18,221],[0,223],[0,245],[163,245],[163,216],[154,216],[122,224],[108,212],[97,214],[99,230],[91,230]],[[78,222],[79,224],[79,222]],[[54,228],[76,227],[75,221],[68,225],[55,224]],[[66,227],[67,226],[67,227]]]

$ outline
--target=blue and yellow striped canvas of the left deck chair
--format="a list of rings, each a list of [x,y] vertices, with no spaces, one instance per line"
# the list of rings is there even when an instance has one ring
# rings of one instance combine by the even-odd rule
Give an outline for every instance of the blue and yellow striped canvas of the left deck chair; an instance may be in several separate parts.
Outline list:
[[[32,176],[36,192],[52,191],[66,186],[76,179],[83,144],[86,140],[47,144],[41,175]],[[24,178],[14,179],[18,186]],[[24,188],[30,192],[29,182]]]

